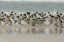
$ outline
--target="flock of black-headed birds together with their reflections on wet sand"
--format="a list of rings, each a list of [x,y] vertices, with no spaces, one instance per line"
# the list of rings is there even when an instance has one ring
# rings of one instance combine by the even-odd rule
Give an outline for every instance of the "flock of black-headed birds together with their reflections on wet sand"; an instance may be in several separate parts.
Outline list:
[[[27,25],[30,26],[37,26],[45,24],[45,22],[48,19],[48,25],[53,25],[53,28],[49,28],[50,34],[61,34],[62,33],[62,27],[64,23],[64,15],[62,13],[59,13],[58,11],[55,13],[55,15],[51,14],[50,12],[43,13],[43,12],[34,12],[31,14],[30,12],[26,12],[24,14],[17,14],[14,12],[11,12],[10,15],[4,14],[4,12],[0,13],[0,25],[2,25],[2,22],[4,22],[4,25],[14,26],[14,24],[22,25],[22,21],[26,22]],[[18,34],[24,33],[24,34],[43,34],[45,33],[44,28],[32,28],[32,29],[26,29],[22,30],[22,28],[19,29],[10,29],[10,30],[1,30],[0,33],[14,33],[17,32]]]

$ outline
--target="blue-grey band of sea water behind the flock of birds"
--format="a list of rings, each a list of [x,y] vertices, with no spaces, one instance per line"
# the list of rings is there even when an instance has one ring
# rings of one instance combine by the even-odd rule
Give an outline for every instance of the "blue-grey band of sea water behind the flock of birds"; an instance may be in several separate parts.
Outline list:
[[[64,12],[63,2],[1,2],[0,11],[14,12],[48,12],[58,10]]]

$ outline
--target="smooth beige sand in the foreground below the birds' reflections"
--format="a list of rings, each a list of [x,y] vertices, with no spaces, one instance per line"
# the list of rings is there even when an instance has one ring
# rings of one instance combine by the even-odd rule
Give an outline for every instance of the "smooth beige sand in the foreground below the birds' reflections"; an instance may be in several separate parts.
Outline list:
[[[0,42],[64,42],[64,36],[0,36]]]

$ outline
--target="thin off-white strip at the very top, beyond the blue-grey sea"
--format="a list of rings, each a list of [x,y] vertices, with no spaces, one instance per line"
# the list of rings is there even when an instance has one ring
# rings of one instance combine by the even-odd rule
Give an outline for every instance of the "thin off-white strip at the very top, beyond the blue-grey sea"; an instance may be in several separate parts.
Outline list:
[[[0,0],[7,2],[64,2],[64,0]]]

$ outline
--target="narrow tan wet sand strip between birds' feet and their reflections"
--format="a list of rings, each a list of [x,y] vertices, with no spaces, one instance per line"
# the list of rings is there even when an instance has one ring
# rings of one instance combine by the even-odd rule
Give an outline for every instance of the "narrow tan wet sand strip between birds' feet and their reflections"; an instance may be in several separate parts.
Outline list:
[[[30,26],[30,25],[0,25],[0,28],[52,28],[50,25],[43,25],[43,26]]]

